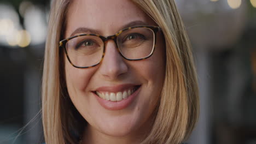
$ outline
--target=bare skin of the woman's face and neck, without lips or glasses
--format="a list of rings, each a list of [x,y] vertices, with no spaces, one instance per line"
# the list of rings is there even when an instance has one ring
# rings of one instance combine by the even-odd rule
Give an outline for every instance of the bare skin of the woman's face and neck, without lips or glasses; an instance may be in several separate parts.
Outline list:
[[[76,0],[68,10],[65,38],[79,27],[95,29],[100,35],[112,35],[132,21],[157,26],[131,1]],[[65,58],[69,97],[88,122],[82,143],[139,143],[144,139],[152,126],[152,113],[165,74],[164,42],[161,33],[158,32],[157,37],[154,54],[142,61],[121,57],[113,40],[108,41],[103,61],[96,67],[74,68]],[[98,87],[125,83],[141,85],[141,91],[125,109],[107,110],[92,93]]]

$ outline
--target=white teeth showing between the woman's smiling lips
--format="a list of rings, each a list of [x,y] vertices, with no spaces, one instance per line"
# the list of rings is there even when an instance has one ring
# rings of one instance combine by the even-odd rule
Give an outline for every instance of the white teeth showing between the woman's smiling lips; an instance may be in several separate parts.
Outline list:
[[[121,101],[123,99],[127,99],[130,95],[137,91],[137,89],[141,86],[134,86],[129,89],[125,89],[122,92],[100,92],[94,91],[98,97],[108,100],[108,101]]]

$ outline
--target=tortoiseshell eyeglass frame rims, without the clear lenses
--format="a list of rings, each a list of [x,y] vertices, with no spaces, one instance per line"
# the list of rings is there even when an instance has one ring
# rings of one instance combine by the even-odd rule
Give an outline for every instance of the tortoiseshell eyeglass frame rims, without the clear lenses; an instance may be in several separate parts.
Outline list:
[[[152,50],[152,52],[150,53],[150,55],[147,56],[147,57],[138,58],[138,59],[126,58],[126,57],[120,52],[120,50],[119,50],[119,47],[118,47],[118,45],[117,45],[117,37],[118,37],[119,34],[121,34],[122,32],[124,32],[124,31],[126,31],[126,30],[128,30],[128,29],[139,28],[139,27],[149,28],[149,29],[151,29],[151,30],[154,32],[153,50]],[[66,53],[66,56],[67,56],[67,59],[68,59],[69,63],[71,63],[71,65],[73,65],[73,67],[75,67],[75,68],[91,68],[91,67],[95,67],[96,65],[100,64],[101,61],[103,60],[104,55],[105,55],[105,47],[106,47],[106,43],[107,43],[108,40],[114,40],[115,44],[117,45],[118,52],[120,53],[120,55],[121,55],[123,58],[125,58],[125,59],[127,59],[127,60],[129,60],[129,61],[139,61],[139,60],[142,60],[142,59],[149,58],[150,56],[153,55],[154,50],[155,50],[155,46],[156,46],[156,34],[157,34],[159,31],[161,31],[161,28],[158,27],[158,26],[134,26],[134,27],[127,27],[127,28],[122,29],[121,31],[115,33],[114,35],[109,35],[109,36],[106,36],[106,37],[104,37],[104,36],[102,36],[102,35],[98,35],[98,34],[79,34],[79,35],[75,35],[75,36],[73,36],[73,37],[70,37],[70,38],[61,40],[59,47],[60,47],[60,48],[62,47],[63,49],[65,49],[65,53]],[[66,44],[67,44],[68,40],[71,40],[71,39],[77,38],[77,37],[82,37],[82,36],[85,36],[85,35],[92,35],[92,36],[96,36],[96,37],[101,38],[101,40],[102,40],[103,43],[104,43],[103,53],[102,53],[101,61],[98,62],[97,64],[91,65],[91,66],[89,66],[89,67],[78,67],[78,66],[74,65],[74,64],[71,62],[71,60],[70,60],[70,58],[69,58],[69,56],[68,56],[68,53],[67,53]]]

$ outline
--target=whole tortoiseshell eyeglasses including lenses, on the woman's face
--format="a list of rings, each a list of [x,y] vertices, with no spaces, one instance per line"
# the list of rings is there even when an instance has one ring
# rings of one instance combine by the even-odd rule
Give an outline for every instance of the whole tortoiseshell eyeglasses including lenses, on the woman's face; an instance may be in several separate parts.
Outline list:
[[[157,26],[125,28],[114,35],[79,34],[60,41],[69,63],[75,68],[90,68],[99,64],[108,40],[114,40],[120,55],[129,61],[138,61],[153,55],[156,45]]]

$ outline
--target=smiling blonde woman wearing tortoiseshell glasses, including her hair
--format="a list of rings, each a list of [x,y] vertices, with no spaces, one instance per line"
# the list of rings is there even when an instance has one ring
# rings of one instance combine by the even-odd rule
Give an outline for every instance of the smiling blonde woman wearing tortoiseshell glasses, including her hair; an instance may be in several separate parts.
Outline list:
[[[174,2],[53,1],[42,95],[46,143],[181,143],[199,101]]]

